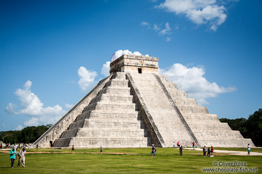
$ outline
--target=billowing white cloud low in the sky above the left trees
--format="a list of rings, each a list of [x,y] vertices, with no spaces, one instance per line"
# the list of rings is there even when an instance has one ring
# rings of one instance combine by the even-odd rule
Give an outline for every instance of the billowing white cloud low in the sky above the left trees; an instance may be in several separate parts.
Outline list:
[[[9,114],[17,114],[17,115],[33,115],[35,117],[31,118],[28,121],[25,121],[26,126],[37,126],[40,123],[46,122],[47,124],[52,124],[52,120],[54,117],[61,117],[65,114],[66,111],[63,110],[61,106],[58,104],[53,107],[43,107],[43,103],[31,91],[32,82],[28,80],[23,89],[17,89],[14,93],[18,96],[20,100],[21,109],[16,111],[15,104],[9,103],[8,106],[5,107],[5,111]],[[45,118],[45,119],[43,119]]]

